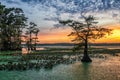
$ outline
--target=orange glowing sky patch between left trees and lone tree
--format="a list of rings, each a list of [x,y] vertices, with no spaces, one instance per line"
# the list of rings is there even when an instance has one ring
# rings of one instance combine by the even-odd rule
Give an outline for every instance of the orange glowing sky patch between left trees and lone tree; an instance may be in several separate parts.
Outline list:
[[[54,29],[49,33],[41,33],[39,41],[40,43],[70,43],[71,40],[67,36],[70,32],[70,29]]]

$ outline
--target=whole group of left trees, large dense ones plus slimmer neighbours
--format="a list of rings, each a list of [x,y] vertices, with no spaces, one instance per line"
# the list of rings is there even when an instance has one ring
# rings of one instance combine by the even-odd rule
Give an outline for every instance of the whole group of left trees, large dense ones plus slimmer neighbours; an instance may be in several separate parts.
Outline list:
[[[39,28],[34,22],[27,25],[27,17],[21,8],[7,8],[0,3],[1,51],[22,50],[23,42],[27,43],[28,49],[36,50],[38,33]]]

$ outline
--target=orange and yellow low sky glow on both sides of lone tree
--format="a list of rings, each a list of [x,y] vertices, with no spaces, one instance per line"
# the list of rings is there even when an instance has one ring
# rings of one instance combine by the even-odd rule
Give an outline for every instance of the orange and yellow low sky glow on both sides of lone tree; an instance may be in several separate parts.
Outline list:
[[[113,34],[97,39],[95,43],[120,43],[120,24],[107,25],[107,27],[113,29]],[[71,29],[68,28],[41,33],[39,35],[39,41],[40,43],[70,43],[71,38],[67,36],[70,32]]]

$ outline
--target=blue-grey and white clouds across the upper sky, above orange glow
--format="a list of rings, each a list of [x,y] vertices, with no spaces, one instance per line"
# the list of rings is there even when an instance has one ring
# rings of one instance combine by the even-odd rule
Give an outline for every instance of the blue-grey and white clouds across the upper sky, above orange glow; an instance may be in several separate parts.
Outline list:
[[[7,7],[22,8],[29,21],[51,28],[60,19],[80,19],[80,13],[95,15],[100,24],[115,23],[119,17],[118,0],[1,0]],[[58,25],[57,25],[58,26]]]

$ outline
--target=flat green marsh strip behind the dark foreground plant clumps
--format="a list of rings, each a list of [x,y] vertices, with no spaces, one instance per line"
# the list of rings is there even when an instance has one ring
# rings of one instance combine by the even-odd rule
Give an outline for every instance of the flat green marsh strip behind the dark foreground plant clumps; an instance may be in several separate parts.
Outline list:
[[[91,58],[104,58],[106,54],[120,56],[120,49],[90,48],[89,55]],[[102,55],[101,55],[102,54]],[[22,54],[21,51],[1,51],[0,63],[3,62],[20,62],[35,59],[36,57],[51,56],[83,56],[83,50],[73,52],[71,48],[46,48],[45,50],[32,51],[29,54]],[[43,59],[43,58],[38,58]],[[37,59],[37,60],[38,60]],[[48,58],[49,59],[49,58]]]

